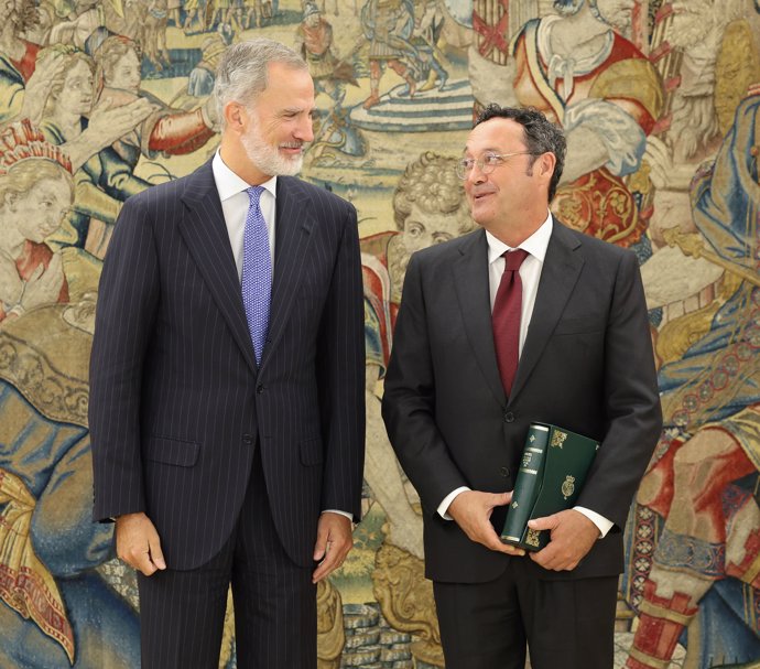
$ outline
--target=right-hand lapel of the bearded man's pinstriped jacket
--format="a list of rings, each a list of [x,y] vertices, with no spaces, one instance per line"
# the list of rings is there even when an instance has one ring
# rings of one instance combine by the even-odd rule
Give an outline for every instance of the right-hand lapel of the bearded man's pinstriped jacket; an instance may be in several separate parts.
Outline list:
[[[282,336],[308,258],[314,225],[308,204],[308,196],[297,179],[278,177],[274,277],[262,367]]]

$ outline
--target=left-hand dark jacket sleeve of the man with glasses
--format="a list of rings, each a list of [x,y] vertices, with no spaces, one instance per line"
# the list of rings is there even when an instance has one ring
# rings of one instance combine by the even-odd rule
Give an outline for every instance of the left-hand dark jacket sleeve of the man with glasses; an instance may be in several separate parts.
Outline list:
[[[435,423],[435,375],[419,256],[404,279],[393,349],[386,375],[382,418],[399,462],[427,514],[456,488],[468,486]]]

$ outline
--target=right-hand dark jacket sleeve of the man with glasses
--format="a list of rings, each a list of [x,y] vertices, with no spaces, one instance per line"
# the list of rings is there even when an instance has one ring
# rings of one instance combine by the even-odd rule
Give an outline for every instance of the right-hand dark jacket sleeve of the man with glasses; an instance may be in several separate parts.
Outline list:
[[[619,530],[662,429],[647,302],[630,252],[622,256],[615,279],[604,396],[608,428],[577,506],[608,518]]]

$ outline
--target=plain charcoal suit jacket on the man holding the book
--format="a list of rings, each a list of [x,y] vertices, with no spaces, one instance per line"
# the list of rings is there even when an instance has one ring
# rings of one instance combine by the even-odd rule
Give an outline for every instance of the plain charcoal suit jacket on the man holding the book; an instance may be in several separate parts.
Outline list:
[[[383,418],[422,499],[428,578],[485,582],[506,568],[510,558],[470,541],[436,509],[459,486],[511,490],[532,421],[601,441],[577,505],[616,525],[572,572],[531,562],[536,576],[619,573],[620,530],[661,428],[653,360],[634,255],[555,220],[508,399],[491,332],[485,231],[414,255]],[[498,508],[491,517],[498,532],[504,516]]]

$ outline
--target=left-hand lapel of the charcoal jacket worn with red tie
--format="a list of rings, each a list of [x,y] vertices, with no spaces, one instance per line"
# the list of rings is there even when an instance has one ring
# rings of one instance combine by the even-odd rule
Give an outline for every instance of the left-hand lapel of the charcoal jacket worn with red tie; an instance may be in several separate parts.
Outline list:
[[[488,241],[478,230],[459,249],[462,257],[453,263],[454,285],[470,348],[497,401],[507,403],[493,347],[491,306],[488,283]]]

